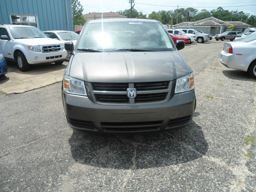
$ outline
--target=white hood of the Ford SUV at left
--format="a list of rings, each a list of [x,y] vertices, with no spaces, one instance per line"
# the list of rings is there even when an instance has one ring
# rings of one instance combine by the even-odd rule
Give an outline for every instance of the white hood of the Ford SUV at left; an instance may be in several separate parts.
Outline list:
[[[27,39],[15,39],[16,43],[36,46],[36,45],[54,45],[54,44],[62,44],[63,42],[51,39],[51,38],[27,38]]]

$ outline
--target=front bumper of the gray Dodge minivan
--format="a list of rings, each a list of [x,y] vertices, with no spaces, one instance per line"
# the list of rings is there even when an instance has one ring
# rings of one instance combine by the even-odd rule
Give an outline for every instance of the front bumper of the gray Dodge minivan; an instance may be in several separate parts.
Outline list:
[[[98,133],[159,132],[185,126],[195,109],[194,90],[175,94],[167,102],[98,104],[88,97],[62,91],[70,127]]]

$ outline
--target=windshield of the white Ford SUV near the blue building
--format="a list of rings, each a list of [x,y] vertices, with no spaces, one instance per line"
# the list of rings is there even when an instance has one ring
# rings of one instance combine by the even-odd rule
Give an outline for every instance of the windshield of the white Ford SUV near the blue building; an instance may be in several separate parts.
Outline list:
[[[14,39],[48,38],[36,27],[11,27],[10,31]]]

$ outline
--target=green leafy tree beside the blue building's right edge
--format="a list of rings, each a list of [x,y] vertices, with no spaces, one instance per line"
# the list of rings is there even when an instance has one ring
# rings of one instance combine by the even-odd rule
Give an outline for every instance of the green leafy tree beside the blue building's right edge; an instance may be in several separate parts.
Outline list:
[[[72,0],[72,18],[73,25],[84,25],[87,19],[83,16],[84,8],[79,0]]]

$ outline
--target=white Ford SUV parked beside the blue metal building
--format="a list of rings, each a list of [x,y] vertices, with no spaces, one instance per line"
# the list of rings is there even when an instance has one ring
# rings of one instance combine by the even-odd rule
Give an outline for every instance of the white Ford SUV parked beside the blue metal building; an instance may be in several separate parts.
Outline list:
[[[41,30],[24,25],[0,25],[0,52],[14,60],[21,71],[31,64],[62,64],[66,58],[64,43],[48,38]]]

